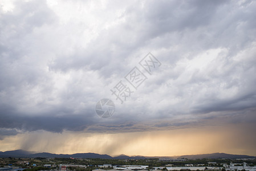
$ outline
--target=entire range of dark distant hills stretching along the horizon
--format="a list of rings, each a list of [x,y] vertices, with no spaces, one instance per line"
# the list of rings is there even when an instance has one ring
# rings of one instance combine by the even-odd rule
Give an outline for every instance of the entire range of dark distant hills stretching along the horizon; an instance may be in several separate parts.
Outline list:
[[[188,158],[188,159],[201,159],[201,158],[256,158],[254,156],[246,155],[235,155],[235,154],[226,154],[226,153],[212,153],[212,154],[197,154],[197,155],[185,155],[185,156],[126,156],[121,154],[120,156],[109,156],[107,154],[97,154],[97,153],[75,153],[75,154],[52,154],[52,153],[36,153],[29,152],[25,150],[11,150],[6,152],[0,152],[0,157],[25,157],[25,158],[36,158],[36,157],[45,157],[45,158],[69,158],[69,157],[79,157],[79,158],[104,158],[104,159],[145,159],[145,158]]]

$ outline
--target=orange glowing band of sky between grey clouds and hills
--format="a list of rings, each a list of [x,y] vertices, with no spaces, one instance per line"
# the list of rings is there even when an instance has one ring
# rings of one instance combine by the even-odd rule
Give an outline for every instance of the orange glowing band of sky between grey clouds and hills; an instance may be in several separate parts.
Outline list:
[[[94,152],[116,156],[181,156],[224,152],[255,155],[255,139],[241,129],[245,125],[184,128],[170,131],[132,133],[31,132],[6,137],[0,141],[2,151],[24,149],[36,152],[73,154]],[[243,135],[238,139],[237,135]],[[246,146],[241,144],[247,143]]]

